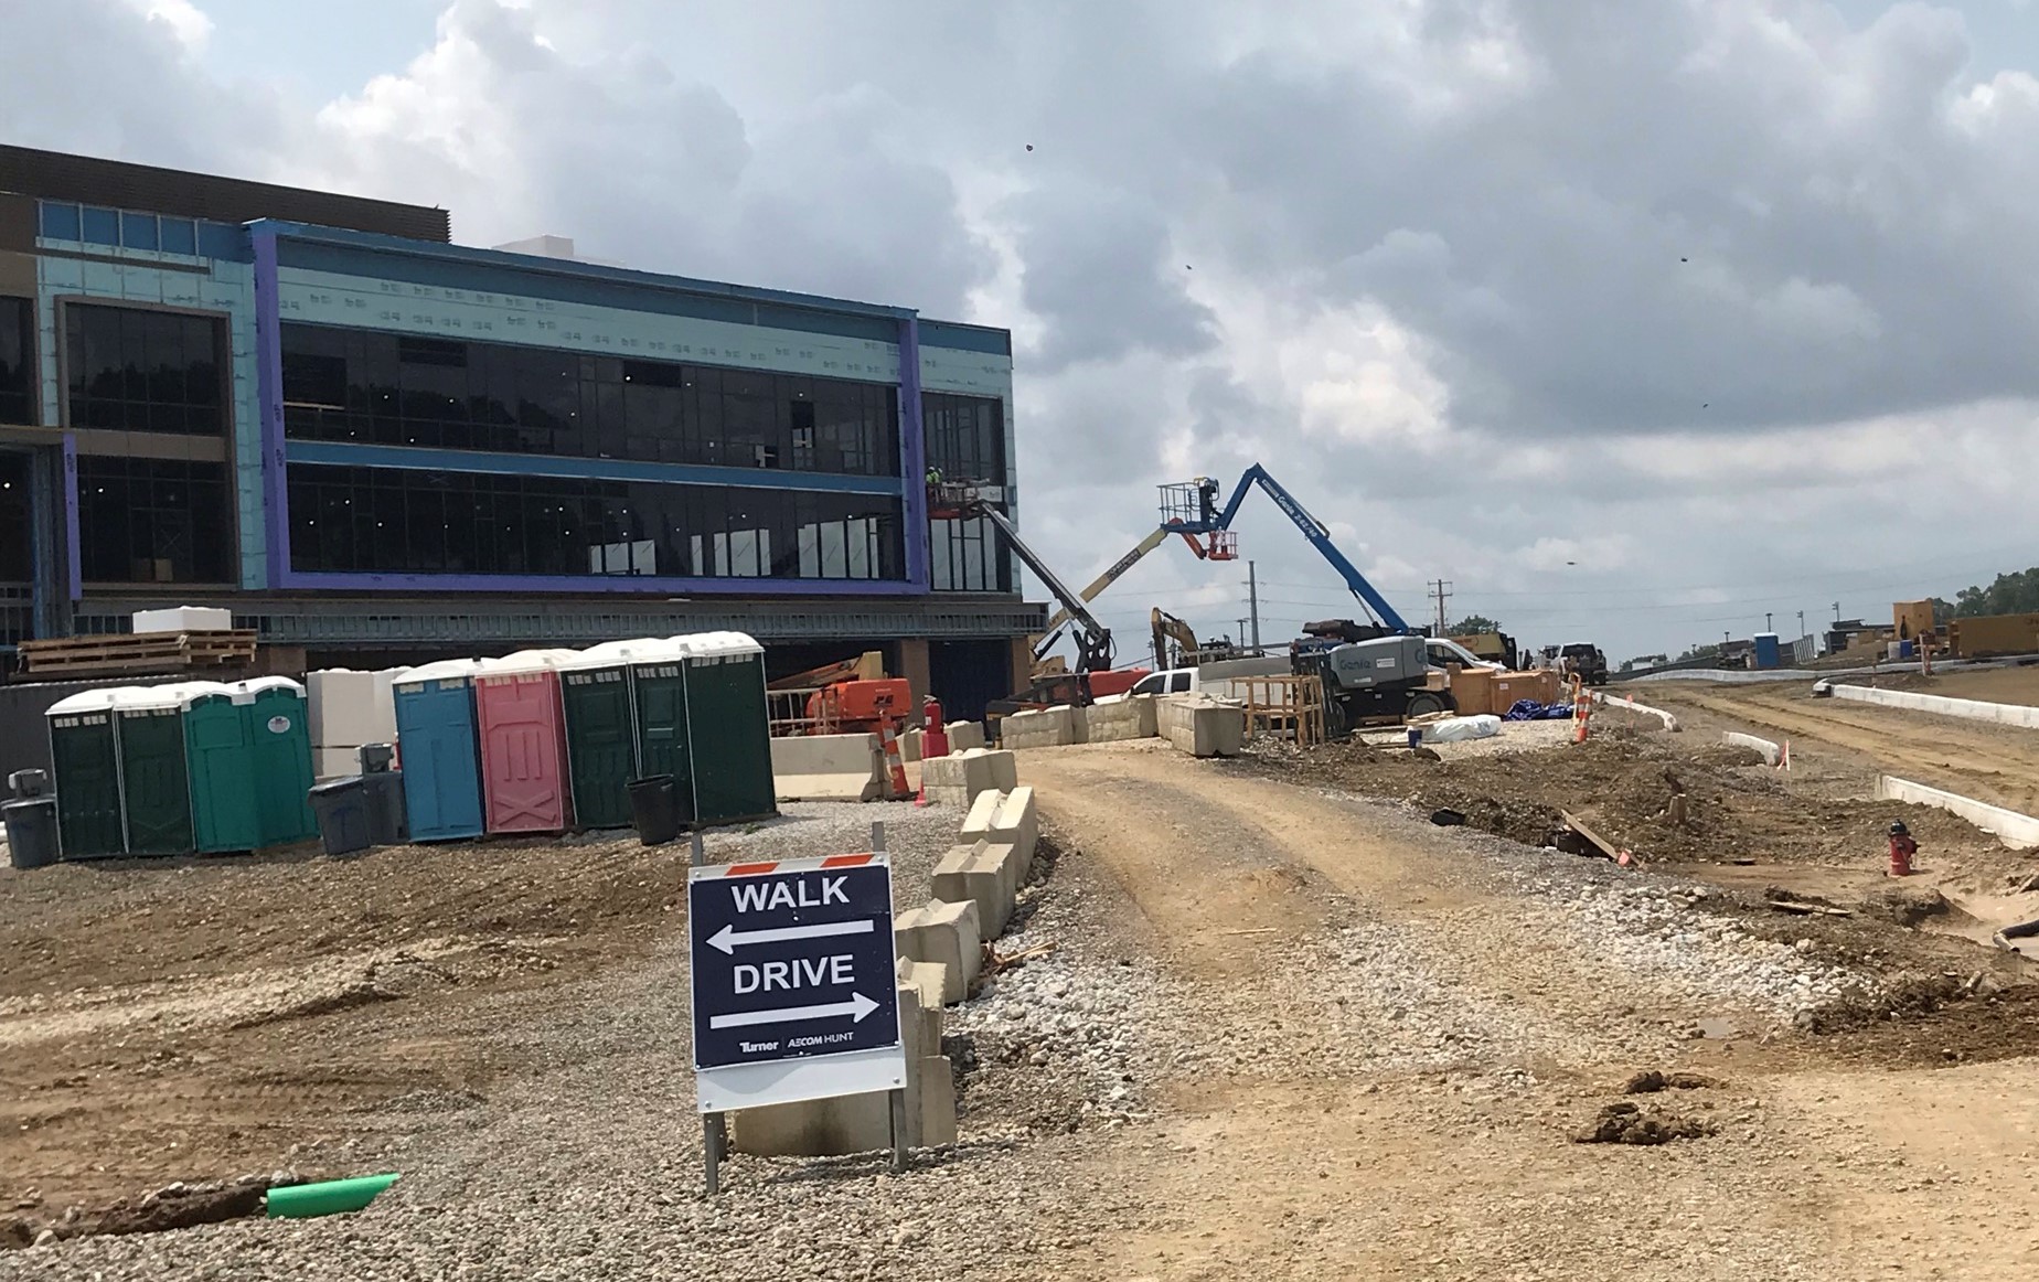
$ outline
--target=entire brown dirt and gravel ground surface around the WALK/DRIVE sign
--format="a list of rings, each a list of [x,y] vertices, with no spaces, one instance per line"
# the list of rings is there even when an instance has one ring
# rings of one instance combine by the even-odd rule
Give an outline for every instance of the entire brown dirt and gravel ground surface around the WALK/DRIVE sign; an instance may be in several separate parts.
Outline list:
[[[1058,950],[950,1013],[962,1143],[893,1184],[740,1160],[720,1203],[687,1127],[671,848],[0,872],[0,1215],[410,1172],[359,1217],[0,1251],[0,1278],[2029,1268],[2039,986],[1962,911],[2039,858],[1904,811],[1919,889],[1955,903],[1886,911],[1892,809],[1858,799],[1853,750],[1794,756],[1780,777],[1701,728],[1611,724],[1440,762],[1026,752],[1058,854],[1001,948]],[[1641,866],[1541,850],[1558,809]],[[958,815],[807,807],[740,840],[840,846],[881,811],[918,825],[924,878]],[[1645,1070],[1692,1076],[1629,1094]]]

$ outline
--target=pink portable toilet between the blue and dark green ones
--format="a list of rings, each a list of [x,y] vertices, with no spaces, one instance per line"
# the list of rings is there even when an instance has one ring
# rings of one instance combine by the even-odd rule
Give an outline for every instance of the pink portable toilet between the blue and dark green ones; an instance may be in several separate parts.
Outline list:
[[[489,832],[565,832],[573,823],[567,715],[559,701],[559,662],[573,654],[518,650],[481,660],[475,673],[481,805]]]

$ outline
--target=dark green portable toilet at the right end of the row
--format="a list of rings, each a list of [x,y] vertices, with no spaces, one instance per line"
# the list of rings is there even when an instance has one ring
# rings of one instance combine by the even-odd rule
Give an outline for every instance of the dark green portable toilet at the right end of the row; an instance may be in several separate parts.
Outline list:
[[[677,640],[687,654],[695,823],[777,815],[765,646],[742,632],[699,632]]]

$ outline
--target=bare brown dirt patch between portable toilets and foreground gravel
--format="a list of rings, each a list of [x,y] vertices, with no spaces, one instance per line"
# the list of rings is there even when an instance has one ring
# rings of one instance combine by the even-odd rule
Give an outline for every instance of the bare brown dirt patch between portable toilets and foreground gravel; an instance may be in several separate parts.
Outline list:
[[[320,1166],[355,1113],[479,1092],[506,993],[640,956],[685,860],[632,842],[0,872],[0,1211]]]

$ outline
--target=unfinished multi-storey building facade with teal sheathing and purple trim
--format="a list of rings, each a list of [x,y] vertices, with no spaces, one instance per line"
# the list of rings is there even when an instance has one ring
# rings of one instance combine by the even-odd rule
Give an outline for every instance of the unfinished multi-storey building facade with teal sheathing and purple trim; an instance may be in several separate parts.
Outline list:
[[[0,149],[0,640],[230,605],[310,662],[736,628],[962,709],[1044,609],[1011,338],[451,243],[447,214]]]

